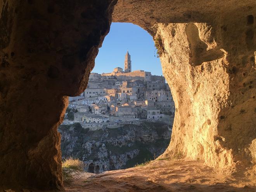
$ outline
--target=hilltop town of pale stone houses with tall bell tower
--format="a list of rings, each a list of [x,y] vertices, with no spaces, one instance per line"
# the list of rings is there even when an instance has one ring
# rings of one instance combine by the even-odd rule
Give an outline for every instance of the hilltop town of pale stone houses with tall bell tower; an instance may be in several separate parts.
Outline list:
[[[124,71],[116,67],[111,73],[91,73],[85,91],[69,97],[69,113],[73,111],[74,116],[67,112],[66,119],[97,124],[173,116],[175,106],[165,78],[143,70],[131,71],[128,51],[124,66]]]

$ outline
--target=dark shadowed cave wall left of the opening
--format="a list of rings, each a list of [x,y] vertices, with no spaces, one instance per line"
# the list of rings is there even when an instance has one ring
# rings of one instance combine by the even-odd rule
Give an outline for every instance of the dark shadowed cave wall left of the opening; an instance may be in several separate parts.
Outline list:
[[[0,1],[0,190],[63,189],[57,126],[86,88],[114,3]]]

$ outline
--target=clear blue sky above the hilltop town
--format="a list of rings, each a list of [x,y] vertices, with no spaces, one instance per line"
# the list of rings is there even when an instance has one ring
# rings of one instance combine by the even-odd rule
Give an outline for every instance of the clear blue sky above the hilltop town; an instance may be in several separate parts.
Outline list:
[[[94,73],[109,73],[115,67],[124,69],[125,54],[131,55],[131,70],[150,71],[162,75],[159,58],[152,36],[141,27],[131,23],[112,22],[109,34],[105,37],[95,59]]]

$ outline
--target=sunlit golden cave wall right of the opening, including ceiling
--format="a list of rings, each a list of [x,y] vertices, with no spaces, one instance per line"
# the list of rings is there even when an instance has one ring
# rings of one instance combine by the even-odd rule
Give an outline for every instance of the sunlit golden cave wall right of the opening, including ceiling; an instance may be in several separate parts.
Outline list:
[[[182,154],[226,173],[255,171],[255,5],[118,1],[113,21],[152,35],[175,101],[171,143],[161,157]]]

